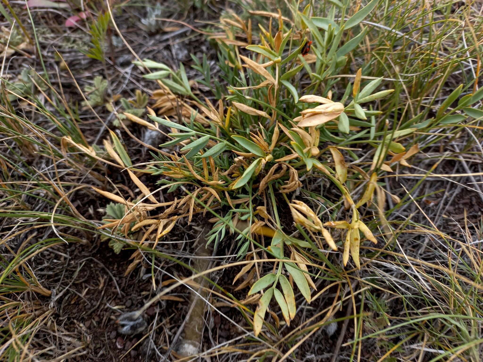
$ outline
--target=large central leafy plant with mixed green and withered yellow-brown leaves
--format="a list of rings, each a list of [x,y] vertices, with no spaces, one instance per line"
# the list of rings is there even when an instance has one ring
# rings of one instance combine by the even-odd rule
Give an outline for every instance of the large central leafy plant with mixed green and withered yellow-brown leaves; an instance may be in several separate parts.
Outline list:
[[[359,210],[370,206],[374,195],[384,204],[385,191],[379,177],[392,172],[395,165],[409,167],[409,158],[419,151],[417,144],[406,149],[401,142],[424,126],[420,118],[393,128],[376,121],[381,112],[373,108],[393,92],[381,89],[383,78],[374,79],[358,70],[353,82],[341,86],[338,77],[347,55],[366,34],[367,29],[357,25],[376,5],[377,0],[370,1],[347,21],[336,21],[332,10],[322,18],[309,16],[310,6],[303,12],[293,9],[290,24],[294,28],[287,28],[288,21],[279,13],[275,34],[271,26],[267,30],[259,24],[257,44],[252,44],[255,39],[251,20],[230,15],[233,18],[222,22],[226,37],[213,38],[219,45],[218,65],[227,89],[211,88],[212,83],[206,81],[210,79],[210,69],[205,66],[205,59],[195,61],[193,67],[203,75],[202,84],[212,89],[217,102],[200,100],[195,95],[196,88],[188,82],[183,65],[171,70],[149,59],[142,64],[135,62],[153,70],[145,78],[160,80],[170,94],[181,96],[176,99],[190,99],[199,112],[180,117],[178,122],[150,115],[170,130],[170,140],[161,146],[175,147],[170,156],[155,156],[159,162],[153,166],[153,172],[169,178],[159,183],[170,185],[170,191],[184,185],[185,190],[190,190],[191,202],[199,203],[199,212],[213,211],[216,217],[208,242],[217,243],[230,233],[238,233],[235,242],[239,258],[253,243],[278,259],[276,271],[262,276],[249,292],[250,300],[258,301],[253,322],[256,335],[261,332],[273,298],[287,324],[295,315],[294,290],[286,274],[306,301],[311,301],[315,284],[308,268],[313,265],[301,256],[300,250],[327,262],[320,251],[324,241],[334,251],[342,247],[342,265],[347,265],[352,256],[355,267],[361,266],[360,243],[365,239],[377,242],[371,231],[377,228],[377,222]],[[241,33],[239,38],[237,31]],[[302,56],[307,33],[313,45],[311,53]],[[466,111],[472,117],[482,116],[471,111],[469,105],[481,99],[483,91],[462,97],[455,109],[444,114],[458,92],[461,88],[429,122],[441,122],[444,117],[448,117],[446,122],[456,122],[461,119],[460,113]],[[458,118],[450,118],[451,115]],[[361,144],[367,145],[372,162],[357,162],[353,149]],[[302,183],[310,177],[327,179],[339,190],[340,204],[347,210],[341,212],[343,220],[323,223],[316,210],[297,199],[301,189],[310,195],[303,191]],[[204,191],[207,192],[202,201],[195,197]],[[318,196],[328,204],[324,195]],[[284,232],[287,227],[279,215],[285,210],[291,211],[303,240]],[[327,228],[341,229],[342,237],[334,239]],[[269,248],[257,242],[261,237],[271,238]],[[334,273],[340,270],[338,265],[330,265]],[[247,265],[241,273],[252,267],[253,264]],[[263,295],[258,294],[263,290]]]

